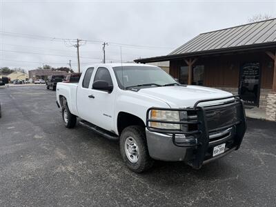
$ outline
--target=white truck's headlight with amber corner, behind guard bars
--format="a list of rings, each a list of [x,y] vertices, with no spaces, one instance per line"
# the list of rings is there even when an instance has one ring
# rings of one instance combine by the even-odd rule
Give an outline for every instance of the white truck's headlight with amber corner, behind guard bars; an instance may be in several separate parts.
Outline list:
[[[176,110],[150,110],[150,119],[156,121],[180,121],[179,111]],[[168,123],[160,123],[155,121],[150,121],[150,127],[152,128],[160,128],[166,130],[181,130],[180,124],[168,124]]]

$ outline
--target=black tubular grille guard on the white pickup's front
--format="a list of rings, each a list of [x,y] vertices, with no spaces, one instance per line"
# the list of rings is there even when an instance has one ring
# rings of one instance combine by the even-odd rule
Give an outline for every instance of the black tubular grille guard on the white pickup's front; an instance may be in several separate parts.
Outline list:
[[[224,99],[232,99],[230,102],[227,103],[221,103],[215,106],[198,106],[199,103],[203,102],[209,102],[209,101],[218,101],[218,100],[224,100]],[[230,107],[236,107],[237,109],[237,120],[232,123],[228,124],[227,126],[215,128],[212,130],[208,130],[208,121],[206,119],[206,112],[210,110],[219,110],[222,108],[230,108]],[[150,119],[150,111],[151,110],[171,110],[171,111],[179,111],[179,112],[193,112],[197,115],[197,119],[190,121],[190,120],[184,120],[184,121],[165,121],[165,120],[156,120],[156,119]],[[161,128],[155,128],[150,126],[150,122],[159,122],[159,123],[166,123],[166,124],[181,124],[186,125],[188,124],[197,124],[197,130],[193,131],[184,131],[184,130],[170,130],[170,129],[161,129]],[[175,144],[175,146],[178,147],[188,147],[188,148],[197,148],[197,153],[195,155],[195,159],[193,161],[190,161],[190,166],[193,166],[194,168],[200,168],[204,162],[204,158],[206,155],[206,151],[209,147],[209,133],[215,132],[219,130],[224,130],[227,128],[235,127],[236,133],[235,133],[235,150],[239,148],[239,146],[242,144],[242,139],[244,138],[244,134],[246,131],[246,116],[244,112],[244,103],[242,99],[239,97],[239,95],[230,96],[230,97],[224,97],[219,99],[204,99],[197,101],[193,108],[149,108],[146,112],[146,128],[150,132],[159,132],[164,133],[167,135],[172,135],[172,142]],[[186,128],[188,129],[188,127]],[[186,142],[179,142],[176,141],[176,135],[185,135],[185,136],[193,136],[196,138],[197,142],[189,143]]]

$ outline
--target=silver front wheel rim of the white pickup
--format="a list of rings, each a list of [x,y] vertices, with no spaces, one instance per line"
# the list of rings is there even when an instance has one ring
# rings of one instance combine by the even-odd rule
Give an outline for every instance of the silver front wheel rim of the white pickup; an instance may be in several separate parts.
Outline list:
[[[131,163],[137,163],[139,160],[138,144],[133,137],[127,137],[125,141],[126,157]]]

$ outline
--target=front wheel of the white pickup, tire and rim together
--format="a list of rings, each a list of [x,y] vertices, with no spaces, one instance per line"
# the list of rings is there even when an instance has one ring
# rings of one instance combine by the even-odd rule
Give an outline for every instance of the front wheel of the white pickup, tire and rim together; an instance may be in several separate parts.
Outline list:
[[[128,126],[121,132],[120,150],[126,166],[133,172],[144,172],[153,164],[148,154],[145,129],[141,126]]]

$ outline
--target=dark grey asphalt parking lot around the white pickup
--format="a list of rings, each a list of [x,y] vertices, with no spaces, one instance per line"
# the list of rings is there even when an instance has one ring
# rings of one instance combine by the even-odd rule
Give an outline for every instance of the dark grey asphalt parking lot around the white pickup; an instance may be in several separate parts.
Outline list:
[[[119,145],[66,129],[45,86],[0,89],[0,206],[276,206],[276,124],[248,119],[240,150],[201,170],[135,174]]]

